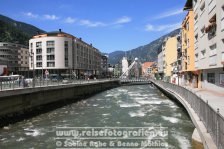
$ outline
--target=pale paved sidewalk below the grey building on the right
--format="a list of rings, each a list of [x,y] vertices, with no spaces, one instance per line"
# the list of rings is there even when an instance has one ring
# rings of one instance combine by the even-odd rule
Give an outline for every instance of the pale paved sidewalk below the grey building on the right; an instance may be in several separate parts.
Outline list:
[[[212,90],[212,89],[203,89],[203,88],[192,88],[190,86],[184,86],[187,89],[193,91],[196,95],[201,97],[205,102],[208,101],[208,104],[224,117],[224,92]]]

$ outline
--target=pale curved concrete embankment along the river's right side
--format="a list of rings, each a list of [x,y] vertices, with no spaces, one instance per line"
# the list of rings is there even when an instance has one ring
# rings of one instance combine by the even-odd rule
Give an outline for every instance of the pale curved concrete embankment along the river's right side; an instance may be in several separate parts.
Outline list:
[[[205,125],[200,120],[196,112],[193,110],[191,105],[184,99],[179,96],[177,93],[173,92],[169,88],[165,88],[156,82],[152,82],[159,90],[161,90],[166,96],[171,99],[174,99],[178,103],[180,103],[188,112],[192,122],[194,123],[195,131],[192,135],[192,148],[193,149],[217,149],[214,141],[212,140],[211,135],[208,133]]]

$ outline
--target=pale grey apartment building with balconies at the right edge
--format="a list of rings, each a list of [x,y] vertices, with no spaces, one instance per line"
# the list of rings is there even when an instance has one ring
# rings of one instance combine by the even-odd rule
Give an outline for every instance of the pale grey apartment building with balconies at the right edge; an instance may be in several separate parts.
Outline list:
[[[195,69],[199,87],[224,87],[224,1],[188,0],[194,11]],[[217,88],[220,89],[220,88]]]

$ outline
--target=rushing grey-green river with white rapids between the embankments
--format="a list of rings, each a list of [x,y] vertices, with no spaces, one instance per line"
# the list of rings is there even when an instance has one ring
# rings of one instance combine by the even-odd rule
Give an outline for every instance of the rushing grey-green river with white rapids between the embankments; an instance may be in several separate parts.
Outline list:
[[[185,109],[154,86],[121,86],[0,128],[0,148],[189,149],[193,130]]]

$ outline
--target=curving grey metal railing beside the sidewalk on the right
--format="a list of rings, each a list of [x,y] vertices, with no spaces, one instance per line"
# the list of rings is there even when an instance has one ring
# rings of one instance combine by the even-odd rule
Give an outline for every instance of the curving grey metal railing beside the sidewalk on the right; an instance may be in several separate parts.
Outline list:
[[[204,123],[207,132],[211,134],[217,148],[224,149],[224,117],[219,113],[219,109],[213,109],[208,101],[205,102],[201,97],[182,86],[163,82],[161,80],[151,81],[184,98]]]

